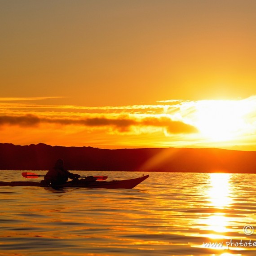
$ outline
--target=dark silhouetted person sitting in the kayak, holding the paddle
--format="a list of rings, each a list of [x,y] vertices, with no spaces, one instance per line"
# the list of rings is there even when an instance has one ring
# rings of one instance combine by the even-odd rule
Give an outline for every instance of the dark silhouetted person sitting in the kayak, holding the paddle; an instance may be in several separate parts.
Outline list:
[[[44,185],[62,185],[70,179],[78,179],[80,177],[79,174],[71,173],[64,168],[64,161],[62,159],[58,159],[55,163],[54,167],[51,168],[46,175],[44,176]]]

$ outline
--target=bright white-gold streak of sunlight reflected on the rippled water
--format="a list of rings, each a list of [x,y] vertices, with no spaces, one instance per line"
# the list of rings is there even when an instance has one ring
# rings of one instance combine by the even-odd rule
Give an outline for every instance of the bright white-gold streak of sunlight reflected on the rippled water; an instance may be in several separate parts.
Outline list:
[[[212,252],[217,252],[218,256],[241,256],[242,254],[236,252],[249,251],[252,250],[252,247],[247,246],[251,237],[239,237],[240,226],[243,226],[245,221],[243,221],[244,216],[236,214],[236,210],[234,211],[233,198],[236,198],[238,194],[234,189],[234,174],[210,173],[207,176],[205,218],[198,221],[202,233],[197,234],[205,240],[196,247],[208,248]],[[235,178],[236,182],[244,182],[242,178]],[[242,244],[238,243],[238,238],[242,238]],[[232,242],[233,245],[230,246]],[[224,252],[221,253],[221,251]]]

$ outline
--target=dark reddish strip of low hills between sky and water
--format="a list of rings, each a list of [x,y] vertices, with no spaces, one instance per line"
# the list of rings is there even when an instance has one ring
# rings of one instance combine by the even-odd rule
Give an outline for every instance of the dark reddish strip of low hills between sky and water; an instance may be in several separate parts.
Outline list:
[[[62,158],[68,170],[127,172],[256,172],[256,152],[216,148],[98,149],[0,143],[0,170],[48,170]]]

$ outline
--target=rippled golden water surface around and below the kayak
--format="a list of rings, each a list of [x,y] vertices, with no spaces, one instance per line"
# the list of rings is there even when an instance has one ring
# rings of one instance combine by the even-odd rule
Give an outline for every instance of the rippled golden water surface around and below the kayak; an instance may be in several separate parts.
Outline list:
[[[153,172],[132,190],[0,187],[0,201],[0,255],[256,255],[256,174]]]

